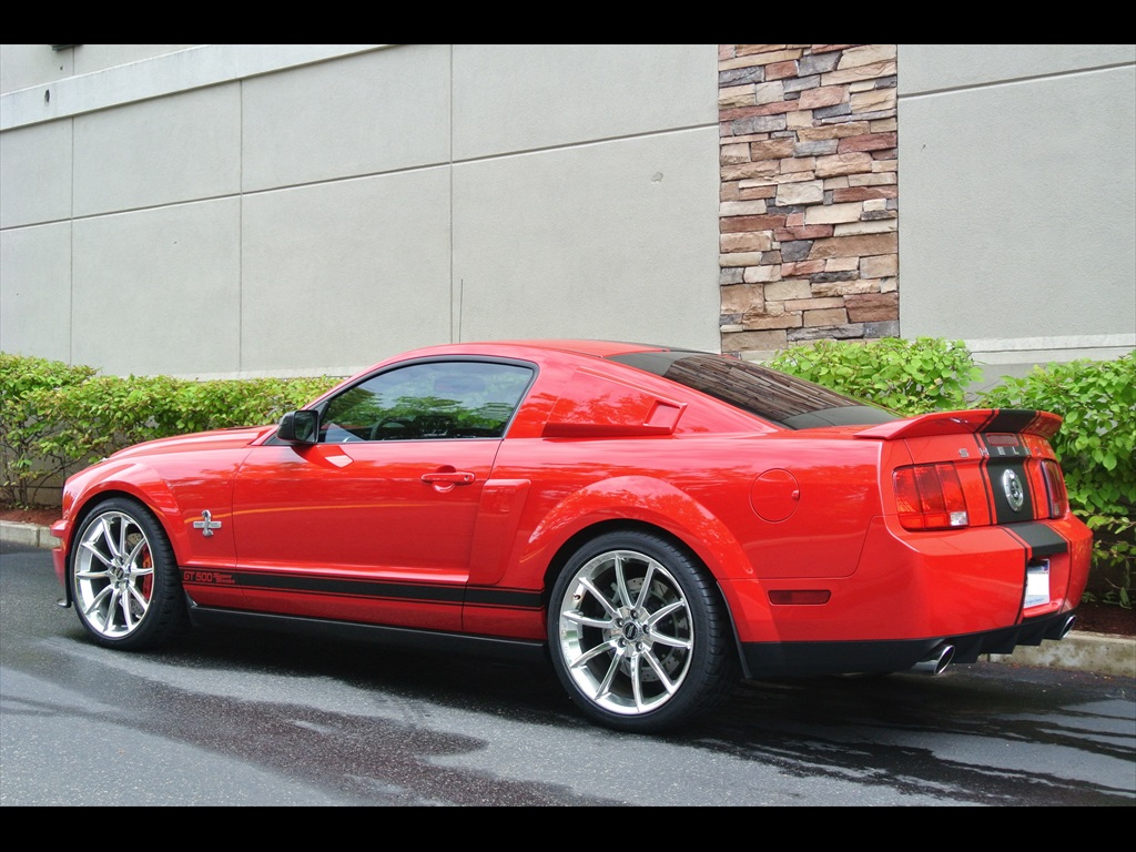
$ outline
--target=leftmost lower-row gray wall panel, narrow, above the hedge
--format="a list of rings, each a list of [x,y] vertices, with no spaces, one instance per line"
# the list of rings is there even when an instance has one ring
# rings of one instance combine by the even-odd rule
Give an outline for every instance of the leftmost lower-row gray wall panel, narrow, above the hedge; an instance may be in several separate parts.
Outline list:
[[[70,358],[72,225],[0,232],[0,351]]]

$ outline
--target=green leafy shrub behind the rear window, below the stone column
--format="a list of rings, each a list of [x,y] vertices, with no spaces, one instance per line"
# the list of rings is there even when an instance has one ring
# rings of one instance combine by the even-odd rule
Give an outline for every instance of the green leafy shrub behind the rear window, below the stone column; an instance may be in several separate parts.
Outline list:
[[[769,366],[908,416],[966,408],[980,375],[961,341],[939,337],[822,340],[782,350]]]

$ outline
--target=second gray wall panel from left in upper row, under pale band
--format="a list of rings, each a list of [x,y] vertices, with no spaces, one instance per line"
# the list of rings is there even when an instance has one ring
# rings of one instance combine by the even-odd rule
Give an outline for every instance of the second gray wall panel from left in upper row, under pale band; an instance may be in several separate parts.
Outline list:
[[[240,190],[241,86],[232,83],[75,118],[75,215]]]

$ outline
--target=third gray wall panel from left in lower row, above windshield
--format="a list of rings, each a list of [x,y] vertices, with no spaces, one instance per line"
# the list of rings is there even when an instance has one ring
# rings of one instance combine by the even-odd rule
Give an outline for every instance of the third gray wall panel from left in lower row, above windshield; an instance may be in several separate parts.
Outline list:
[[[450,334],[449,174],[245,199],[244,370],[343,375]]]

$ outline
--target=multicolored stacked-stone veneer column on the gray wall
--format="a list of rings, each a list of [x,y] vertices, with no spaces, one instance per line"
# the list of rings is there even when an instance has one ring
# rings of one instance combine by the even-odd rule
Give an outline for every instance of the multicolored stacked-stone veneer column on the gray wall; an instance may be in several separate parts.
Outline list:
[[[721,44],[721,351],[899,335],[894,44]]]

